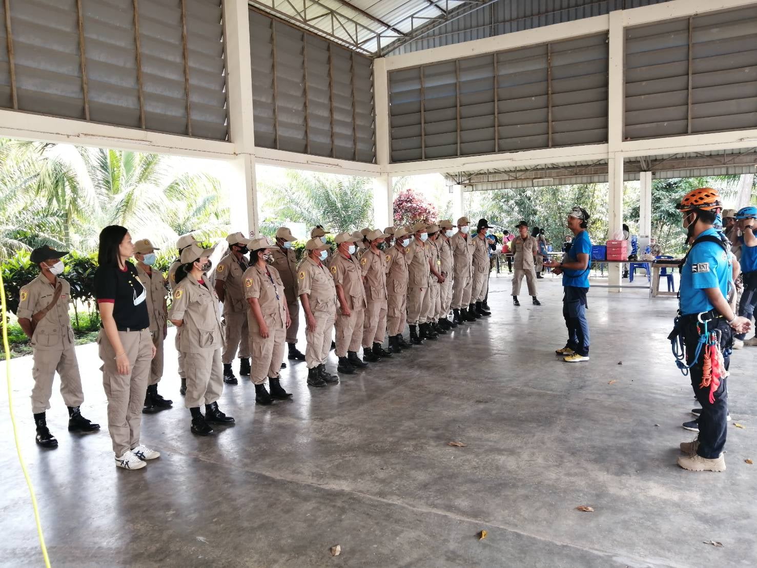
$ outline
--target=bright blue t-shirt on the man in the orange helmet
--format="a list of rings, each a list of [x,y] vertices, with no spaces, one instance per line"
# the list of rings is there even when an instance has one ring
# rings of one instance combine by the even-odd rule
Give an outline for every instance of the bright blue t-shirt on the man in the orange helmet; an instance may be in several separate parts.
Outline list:
[[[707,229],[699,237],[718,236],[715,229]],[[697,238],[699,238],[697,237]],[[691,249],[686,264],[681,269],[681,314],[699,314],[714,307],[707,299],[705,288],[719,288],[728,295],[731,279],[731,258],[715,242],[700,242]]]

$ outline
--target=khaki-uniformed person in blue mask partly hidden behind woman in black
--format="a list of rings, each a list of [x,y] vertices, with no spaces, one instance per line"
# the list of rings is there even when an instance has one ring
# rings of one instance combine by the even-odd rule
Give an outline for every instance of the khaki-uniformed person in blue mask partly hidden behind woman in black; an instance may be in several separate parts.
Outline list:
[[[157,383],[163,377],[164,339],[168,335],[168,307],[166,303],[166,281],[160,270],[153,270],[157,257],[150,239],[139,239],[134,245],[134,257],[137,261],[139,282],[147,291],[147,310],[150,316],[150,335],[155,345],[155,356],[150,364],[150,378],[148,380],[145,406],[142,412],[151,414],[161,408],[170,408],[173,401],[163,398],[157,393]]]

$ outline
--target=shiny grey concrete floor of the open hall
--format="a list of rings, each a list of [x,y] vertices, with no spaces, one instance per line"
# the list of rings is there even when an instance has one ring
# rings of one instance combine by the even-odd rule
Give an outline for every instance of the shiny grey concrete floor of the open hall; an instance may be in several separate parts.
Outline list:
[[[103,431],[70,435],[54,393],[55,451],[34,443],[31,360],[14,360],[53,565],[755,566],[757,465],[744,460],[757,460],[757,348],[732,360],[731,414],[746,428],[729,426],[727,472],[689,473],[675,459],[693,395],[665,339],[676,301],[593,289],[592,358],[569,365],[553,354],[559,281],[539,286],[543,306],[515,308],[509,279],[492,278],[493,317],[327,389],[290,367],[293,401],[255,406],[248,380],[227,387],[237,423],[211,438],[189,432],[170,348],[160,392],[176,407],[144,417],[162,456],[139,471],[114,467],[94,346],[79,348],[83,410]],[[9,422],[0,413],[0,564],[39,566]]]

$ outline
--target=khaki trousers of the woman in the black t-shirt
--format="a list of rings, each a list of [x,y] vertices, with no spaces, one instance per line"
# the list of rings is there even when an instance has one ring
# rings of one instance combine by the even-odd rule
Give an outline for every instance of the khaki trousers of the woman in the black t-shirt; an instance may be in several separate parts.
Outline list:
[[[114,358],[116,351],[104,330],[100,330],[97,340],[102,360],[102,385],[107,397],[107,431],[111,432],[116,457],[139,445],[152,356],[152,337],[148,329],[118,332],[118,336],[129,357],[128,375],[118,373]]]

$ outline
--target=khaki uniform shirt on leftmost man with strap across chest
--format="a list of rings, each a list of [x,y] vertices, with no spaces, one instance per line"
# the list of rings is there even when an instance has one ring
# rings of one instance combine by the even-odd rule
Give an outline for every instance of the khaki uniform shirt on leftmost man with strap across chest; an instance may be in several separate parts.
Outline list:
[[[23,286],[20,290],[16,315],[31,320],[34,314],[48,307],[58,283],[61,284],[61,297],[34,329],[32,347],[35,349],[61,349],[73,343],[73,329],[71,329],[71,320],[68,316],[71,286],[62,278],[58,278],[53,285],[40,274]]]

